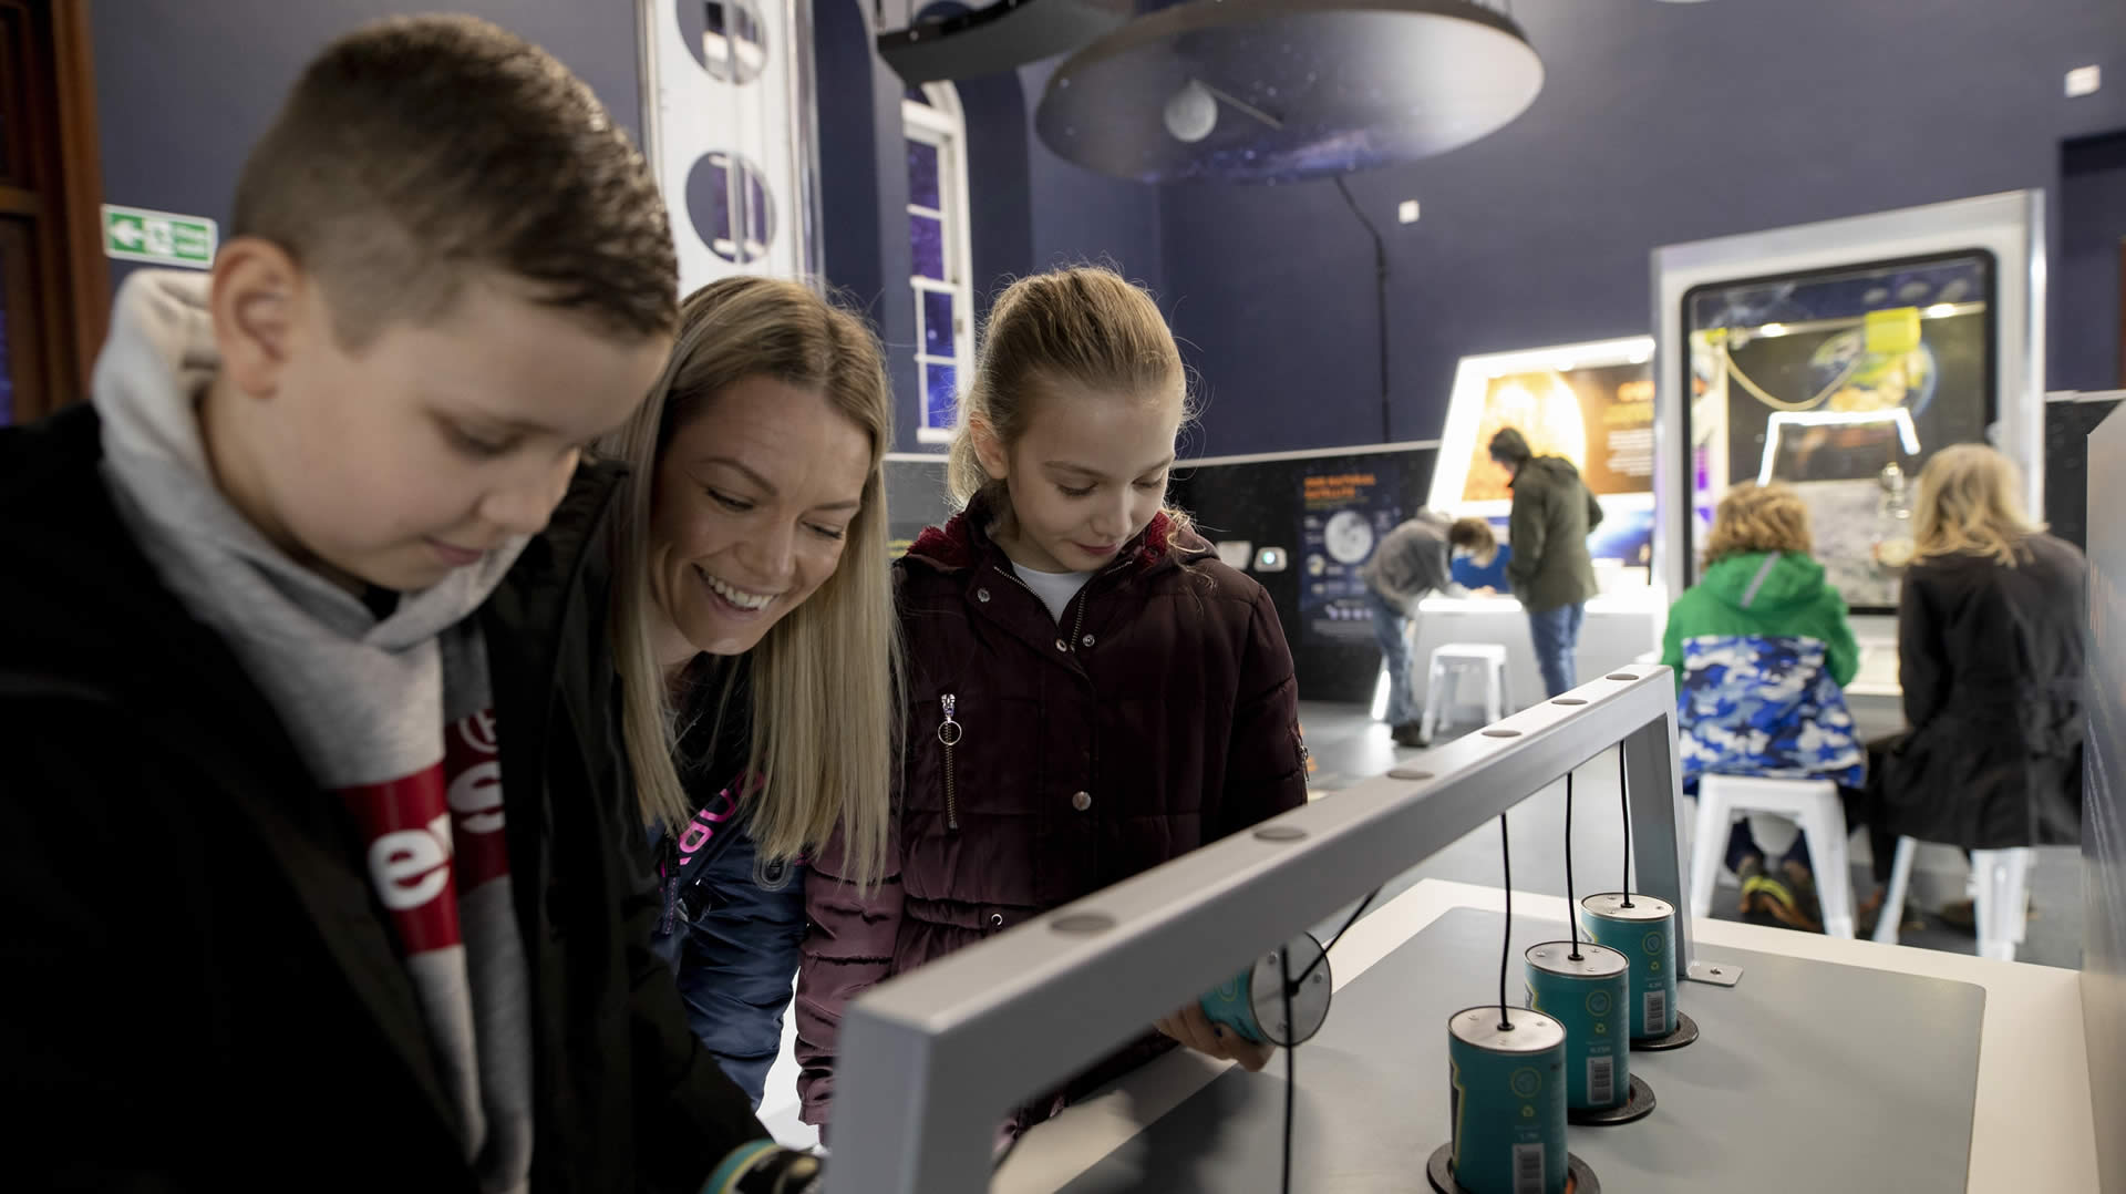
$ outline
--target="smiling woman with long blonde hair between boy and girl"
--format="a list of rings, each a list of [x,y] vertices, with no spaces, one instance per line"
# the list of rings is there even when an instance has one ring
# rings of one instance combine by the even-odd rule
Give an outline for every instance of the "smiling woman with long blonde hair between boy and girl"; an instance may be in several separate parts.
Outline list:
[[[680,306],[648,400],[606,445],[627,770],[657,853],[659,947],[695,1034],[761,1102],[804,939],[804,858],[884,868],[897,626],[878,338],[789,281]]]

